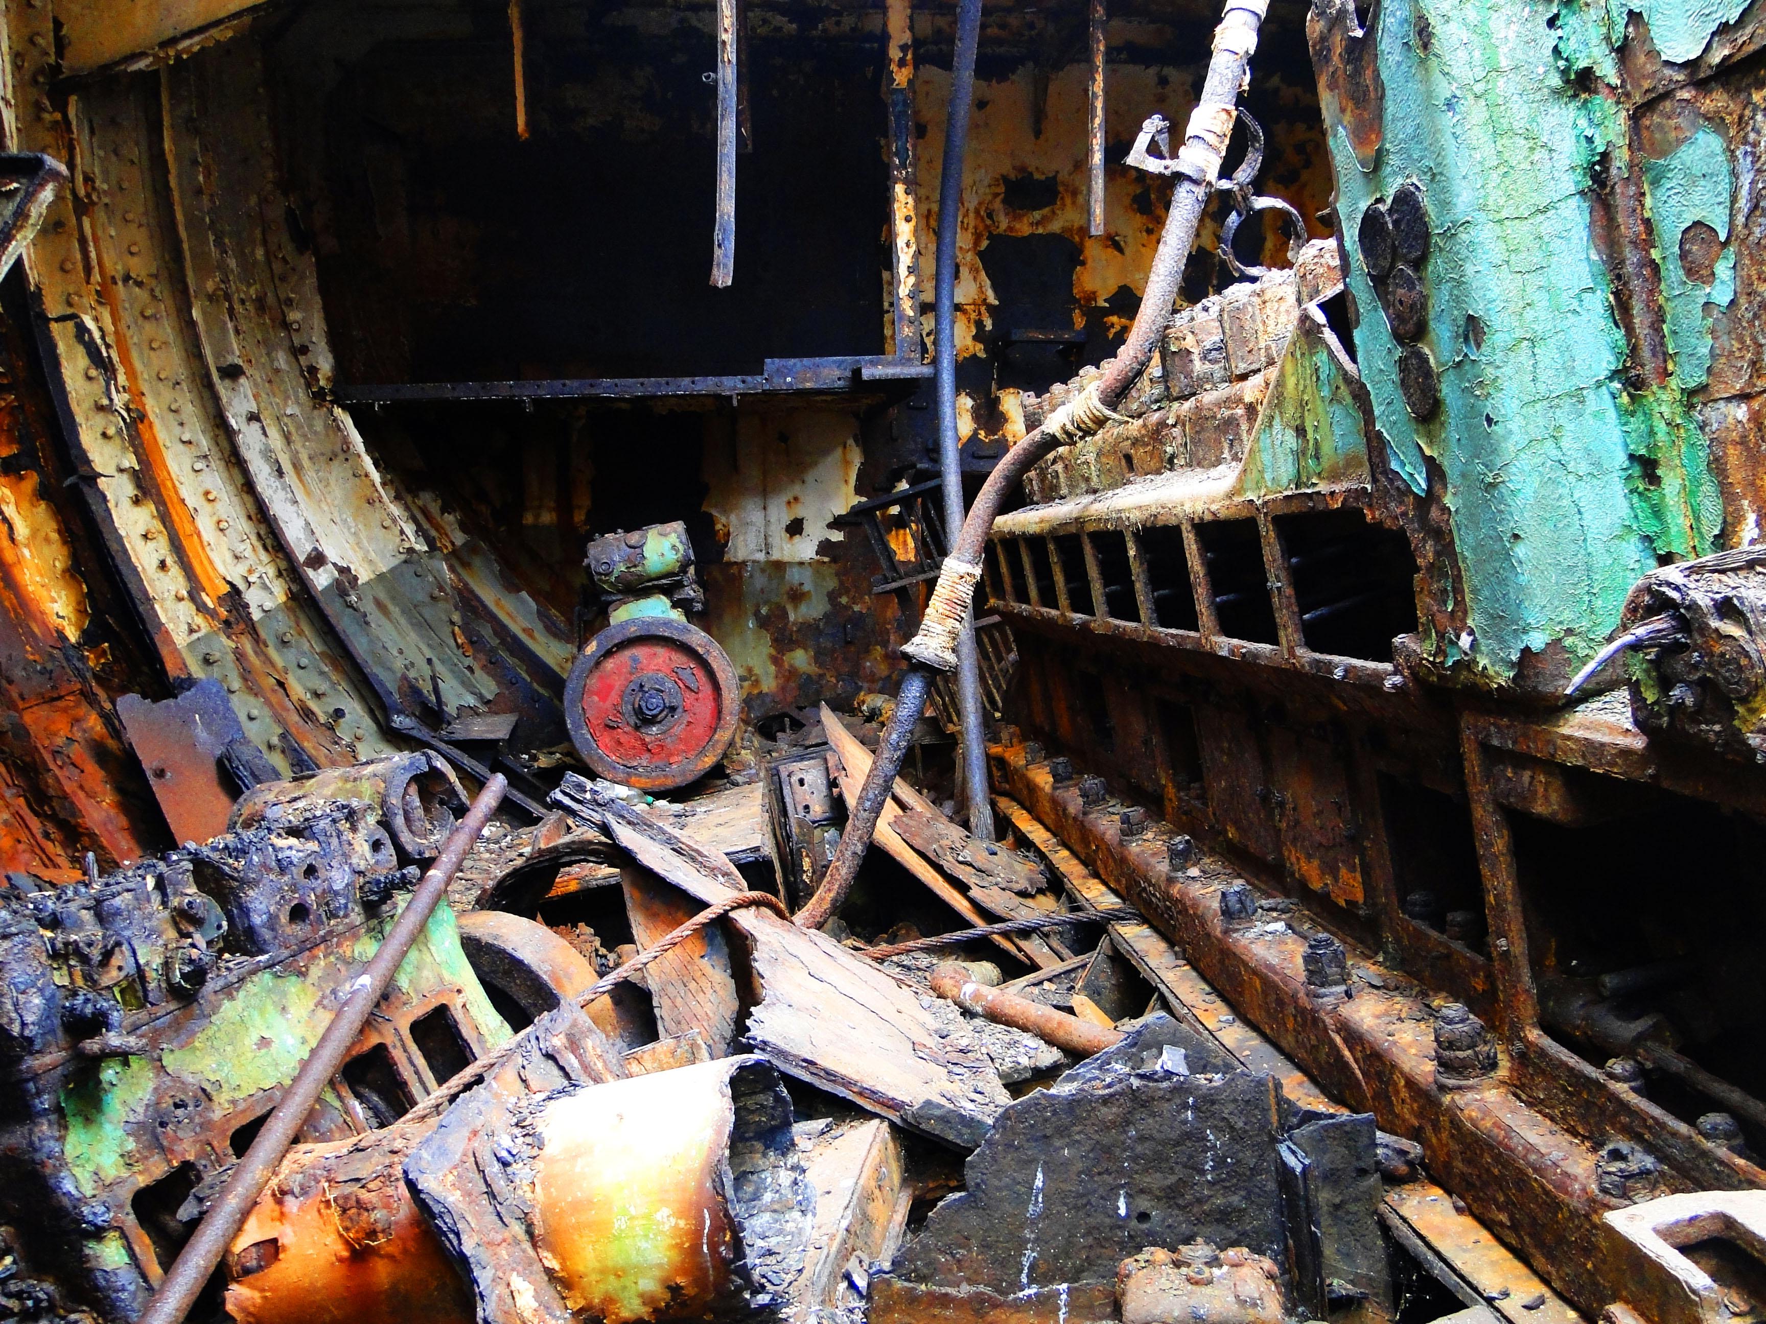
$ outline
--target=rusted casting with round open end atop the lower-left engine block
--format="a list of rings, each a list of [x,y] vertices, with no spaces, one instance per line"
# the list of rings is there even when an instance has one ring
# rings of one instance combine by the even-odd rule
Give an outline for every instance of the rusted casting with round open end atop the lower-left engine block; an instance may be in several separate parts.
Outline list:
[[[380,807],[406,860],[434,860],[466,809],[466,793],[447,763],[429,750],[325,768],[298,782],[254,786],[233,807],[228,828],[256,828],[323,800]]]

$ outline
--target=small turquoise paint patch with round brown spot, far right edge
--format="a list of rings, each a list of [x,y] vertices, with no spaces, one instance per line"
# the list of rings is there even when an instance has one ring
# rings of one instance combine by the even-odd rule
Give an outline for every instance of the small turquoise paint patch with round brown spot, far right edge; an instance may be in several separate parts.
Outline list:
[[[1699,131],[1664,161],[1644,161],[1644,189],[1657,231],[1662,268],[1662,304],[1667,309],[1667,346],[1674,355],[1674,381],[1687,390],[1702,387],[1711,371],[1711,305],[1727,307],[1736,297],[1736,252],[1729,247],[1729,198],[1734,175],[1729,150],[1711,129]],[[1724,242],[1709,284],[1699,284],[1679,261],[1681,235],[1699,222]]]

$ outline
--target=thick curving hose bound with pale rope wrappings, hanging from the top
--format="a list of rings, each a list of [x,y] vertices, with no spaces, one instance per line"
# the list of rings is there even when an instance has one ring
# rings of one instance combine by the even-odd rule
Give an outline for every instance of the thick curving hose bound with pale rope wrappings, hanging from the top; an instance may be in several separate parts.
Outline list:
[[[1217,41],[1213,58],[1208,62],[1203,95],[1190,115],[1192,141],[1197,125],[1206,125],[1210,120],[1213,120],[1217,132],[1220,122],[1231,131],[1238,92],[1245,85],[1250,69],[1250,55],[1256,49],[1256,35],[1261,21],[1263,7],[1256,0],[1250,4],[1247,0],[1227,0],[1226,18],[1222,18],[1215,34]],[[1219,37],[1227,32],[1229,23],[1234,26],[1236,39],[1220,41]],[[1219,138],[1219,145],[1224,150],[1224,136]],[[1185,143],[1185,152],[1189,150],[1190,145]],[[1213,168],[1213,173],[1217,171],[1219,159],[1215,159]],[[1176,307],[1178,288],[1183,282],[1183,263],[1196,244],[1196,226],[1201,222],[1203,208],[1213,194],[1213,185],[1215,180],[1211,177],[1178,177],[1176,189],[1171,194],[1171,210],[1166,212],[1166,228],[1160,231],[1158,249],[1153,254],[1146,288],[1141,293],[1141,307],[1134,314],[1134,325],[1128,328],[1128,339],[1116,357],[1104,364],[1104,371],[1088,388],[1088,394],[1095,394],[1097,404],[1104,410],[1111,410],[1121,401],[1128,387],[1134,385],[1136,378],[1141,376],[1151,360],[1153,350],[1158,346],[1158,337],[1164,335],[1166,323]],[[1051,418],[1049,422],[1053,424],[1054,420]],[[980,575],[987,533],[992,530],[992,523],[1005,507],[1007,498],[1017,489],[1031,466],[1072,440],[1065,427],[1044,424],[1005,452],[1005,457],[987,475],[987,482],[982,484],[975,505],[970,507],[968,519],[962,521],[962,531],[945,558],[943,570],[940,570],[940,588],[945,586],[947,575],[952,577],[952,584],[959,584],[964,575],[970,575],[970,588],[973,588],[973,577]],[[945,597],[947,616],[968,611],[970,591],[947,593]],[[927,604],[925,620],[920,623],[922,634],[927,632],[929,625],[934,628],[940,625],[934,620],[934,609],[938,607],[940,593],[934,590],[932,600]],[[816,895],[798,913],[796,922],[805,929],[825,925],[853,890],[853,881],[858,877],[858,865],[871,847],[871,835],[876,831],[878,817],[883,814],[883,803],[888,800],[890,787],[908,754],[913,726],[925,711],[932,674],[934,669],[931,666],[913,662],[902,676],[901,688],[895,692],[895,711],[883,734],[883,743],[878,747],[871,773],[865,777],[864,789],[858,793],[858,801],[848,807],[846,831],[834,851],[828,872],[823,876],[821,886],[816,888]]]

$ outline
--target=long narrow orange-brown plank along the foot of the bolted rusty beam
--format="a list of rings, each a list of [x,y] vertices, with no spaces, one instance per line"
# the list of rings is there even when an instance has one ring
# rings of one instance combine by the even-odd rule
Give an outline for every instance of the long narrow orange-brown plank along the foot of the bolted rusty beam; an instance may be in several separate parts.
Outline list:
[[[1012,823],[1012,828],[1049,861],[1067,884],[1074,900],[1088,911],[1127,906],[1116,891],[1081,863],[1079,856],[1061,846],[1060,839],[1044,828],[1021,803],[1010,796],[994,796],[994,809]],[[1166,997],[1180,1019],[1208,1033],[1234,1059],[1252,1072],[1264,1072],[1282,1082],[1282,1093],[1294,1103],[1321,1112],[1342,1112],[1328,1100],[1312,1079],[1286,1054],[1245,1022],[1231,1003],[1208,983],[1166,936],[1146,923],[1111,923],[1109,939],[1134,967]]]

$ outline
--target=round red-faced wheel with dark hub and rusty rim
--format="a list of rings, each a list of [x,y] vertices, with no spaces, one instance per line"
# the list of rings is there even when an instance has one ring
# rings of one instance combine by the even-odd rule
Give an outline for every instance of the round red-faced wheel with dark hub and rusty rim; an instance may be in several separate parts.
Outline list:
[[[742,687],[705,630],[639,616],[597,634],[563,688],[570,743],[599,777],[671,791],[712,770],[736,734]]]

